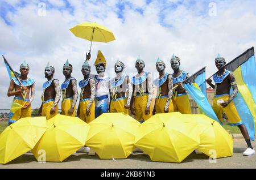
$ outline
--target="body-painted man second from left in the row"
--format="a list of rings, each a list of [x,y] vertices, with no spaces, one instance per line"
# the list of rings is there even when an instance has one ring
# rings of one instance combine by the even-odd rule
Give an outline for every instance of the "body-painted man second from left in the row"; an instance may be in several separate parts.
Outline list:
[[[58,113],[58,103],[61,97],[59,80],[53,79],[54,72],[55,68],[48,63],[44,69],[47,82],[43,84],[42,105],[39,109],[39,114],[46,116],[46,119],[50,119]]]

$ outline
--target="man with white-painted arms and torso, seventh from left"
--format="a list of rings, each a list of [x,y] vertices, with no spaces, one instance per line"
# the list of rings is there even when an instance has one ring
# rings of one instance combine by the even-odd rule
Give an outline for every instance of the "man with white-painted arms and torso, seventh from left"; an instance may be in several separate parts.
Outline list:
[[[131,79],[133,97],[131,97],[130,109],[131,113],[136,115],[136,119],[142,123],[152,117],[152,109],[150,107],[153,95],[152,75],[150,72],[144,72],[145,63],[139,57],[136,60],[135,67],[138,74]]]

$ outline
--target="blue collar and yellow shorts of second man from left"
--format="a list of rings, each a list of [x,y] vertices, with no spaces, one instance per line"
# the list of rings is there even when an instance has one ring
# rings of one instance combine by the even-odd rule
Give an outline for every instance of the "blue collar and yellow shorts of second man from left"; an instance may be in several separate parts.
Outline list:
[[[51,119],[52,117],[54,117],[58,113],[58,105],[56,105],[56,112],[54,114],[50,113],[55,99],[52,98],[52,99],[49,99],[49,100],[44,100],[44,92],[52,84],[53,80],[57,80],[57,79],[52,79],[52,80],[49,80],[48,82],[44,82],[44,84],[43,84],[43,93],[42,93],[42,96],[41,96],[41,99],[42,99],[42,102],[43,102],[42,116],[46,116],[47,120]]]

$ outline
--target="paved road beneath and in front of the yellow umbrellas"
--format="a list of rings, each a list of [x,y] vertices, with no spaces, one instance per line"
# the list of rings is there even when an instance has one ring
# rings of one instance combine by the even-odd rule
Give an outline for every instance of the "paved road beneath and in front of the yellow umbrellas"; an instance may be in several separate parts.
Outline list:
[[[130,155],[124,160],[100,160],[96,156],[88,156],[85,153],[77,153],[68,157],[64,162],[46,162],[44,164],[35,160],[32,153],[26,153],[9,164],[1,165],[0,169],[5,168],[254,168],[256,169],[256,155],[247,157],[242,156],[245,151],[246,143],[243,139],[234,139],[233,157],[219,158],[216,163],[209,163],[208,156],[196,155],[192,153],[180,164],[167,162],[152,162],[147,155]],[[253,142],[256,148],[256,143]]]

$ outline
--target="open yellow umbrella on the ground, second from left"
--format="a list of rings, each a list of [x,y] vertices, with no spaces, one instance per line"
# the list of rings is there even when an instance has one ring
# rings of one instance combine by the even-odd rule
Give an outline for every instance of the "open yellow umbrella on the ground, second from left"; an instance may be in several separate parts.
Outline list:
[[[36,160],[61,162],[84,146],[89,125],[76,117],[57,114],[47,121],[48,129],[32,149]]]

